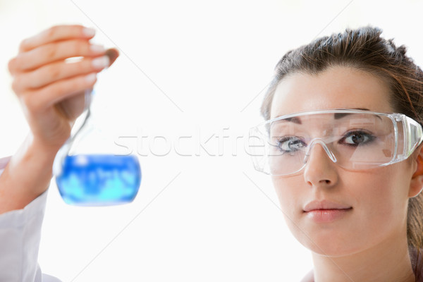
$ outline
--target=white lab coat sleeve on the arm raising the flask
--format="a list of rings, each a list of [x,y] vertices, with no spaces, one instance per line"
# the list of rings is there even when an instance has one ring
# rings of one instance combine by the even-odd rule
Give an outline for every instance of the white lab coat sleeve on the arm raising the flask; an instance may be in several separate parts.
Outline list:
[[[10,158],[0,159],[0,174]],[[60,282],[37,263],[47,191],[24,209],[0,214],[0,282]]]

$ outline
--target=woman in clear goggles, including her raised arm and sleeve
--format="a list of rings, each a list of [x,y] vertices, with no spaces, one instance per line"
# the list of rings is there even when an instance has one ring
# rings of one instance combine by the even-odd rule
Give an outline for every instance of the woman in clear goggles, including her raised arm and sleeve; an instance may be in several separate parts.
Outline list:
[[[90,48],[88,40],[92,35],[92,30],[80,26],[54,27],[25,40],[20,54],[9,63],[14,76],[13,89],[23,102],[32,135],[20,153],[9,161],[0,178],[1,212],[8,212],[0,216],[0,226],[20,221],[27,226],[23,229],[37,232],[27,234],[16,228],[1,235],[2,258],[21,245],[28,247],[29,255],[16,257],[15,262],[21,264],[2,259],[0,280],[40,281],[36,264],[38,244],[34,242],[39,242],[42,212],[38,211],[44,207],[43,192],[51,171],[39,167],[40,164],[51,167],[54,155],[70,134],[73,120],[80,114],[81,93],[94,85],[92,74],[107,65],[104,57],[103,63],[92,63],[94,58],[104,56],[104,50]],[[273,146],[268,146],[271,151],[257,156],[255,164],[272,174],[291,231],[312,250],[314,271],[305,281],[416,279],[413,271],[417,264],[410,257],[413,251],[418,253],[422,239],[421,225],[418,227],[421,221],[417,221],[420,214],[414,212],[421,208],[422,202],[421,146],[419,139],[414,138],[416,146],[406,150],[410,157],[398,157],[401,154],[393,152],[391,145],[396,145],[393,147],[396,151],[402,148],[404,153],[404,142],[389,138],[391,127],[381,124],[388,125],[391,119],[373,112],[399,111],[420,121],[422,71],[407,59],[403,47],[397,49],[379,35],[378,30],[364,28],[290,51],[278,63],[276,78],[264,99],[262,112],[272,122],[259,126],[257,130],[262,135],[256,136]],[[79,68],[73,68],[63,61],[70,56],[85,59]],[[403,94],[405,102],[400,100]],[[351,110],[321,111],[328,109],[368,111],[366,114]],[[320,111],[309,112],[316,110]],[[307,114],[286,116],[304,111]],[[278,121],[273,121],[277,118]],[[345,118],[360,123],[360,128],[355,125],[346,135],[342,126],[333,130],[336,129],[333,125],[341,125],[339,122]],[[401,121],[415,125],[402,118]],[[392,124],[396,124],[394,121]],[[400,126],[397,125],[396,135],[401,132],[403,137],[414,136],[398,130],[398,127],[403,129]],[[379,129],[376,131],[379,134],[370,132],[372,128]],[[418,130],[412,132],[417,134]],[[267,133],[271,133],[271,142],[264,139]],[[381,155],[374,154],[376,164],[370,161],[369,167],[357,169],[355,165],[362,165],[369,158],[366,154],[356,157],[353,146],[367,144],[369,140],[377,142],[383,136],[386,143],[377,143],[376,147],[382,149]],[[336,142],[333,137],[338,138]],[[336,146],[345,144],[350,144],[350,154]],[[387,157],[383,156],[391,155],[401,161],[387,165]],[[297,157],[297,161],[287,165],[288,156]],[[22,171],[30,174],[24,176]],[[8,204],[3,206],[3,203]],[[407,209],[410,210],[408,221]],[[32,216],[36,220],[25,221]],[[16,235],[20,238],[18,243],[13,242]],[[8,252],[4,252],[6,243]],[[18,269],[21,276],[6,271],[6,266],[16,265],[26,266]]]

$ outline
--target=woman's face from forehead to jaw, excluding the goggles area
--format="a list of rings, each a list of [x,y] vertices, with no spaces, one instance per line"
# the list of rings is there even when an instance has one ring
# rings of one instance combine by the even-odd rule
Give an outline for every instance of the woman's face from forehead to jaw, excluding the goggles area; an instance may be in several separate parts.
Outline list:
[[[309,75],[295,73],[278,85],[271,118],[315,109],[369,109],[392,112],[387,85],[374,75],[334,67]],[[321,145],[293,176],[272,176],[281,209],[293,235],[321,255],[352,255],[404,240],[411,161],[367,171],[346,171]],[[341,212],[305,212],[316,201],[343,207]]]

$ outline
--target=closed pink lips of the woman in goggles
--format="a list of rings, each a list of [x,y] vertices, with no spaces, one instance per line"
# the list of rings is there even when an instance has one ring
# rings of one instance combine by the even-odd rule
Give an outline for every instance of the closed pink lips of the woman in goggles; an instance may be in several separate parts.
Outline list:
[[[345,204],[323,200],[309,202],[305,205],[303,211],[309,219],[317,223],[327,223],[341,219],[352,209],[353,207]]]

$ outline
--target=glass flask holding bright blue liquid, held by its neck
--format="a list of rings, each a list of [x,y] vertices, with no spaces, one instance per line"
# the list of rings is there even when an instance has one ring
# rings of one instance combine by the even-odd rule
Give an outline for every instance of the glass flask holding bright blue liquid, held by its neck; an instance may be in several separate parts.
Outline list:
[[[56,154],[53,174],[57,187],[67,204],[108,206],[132,202],[140,187],[140,162],[135,154],[116,151],[113,133],[103,122],[104,111],[98,110],[101,105],[96,107],[99,93],[94,92],[85,92],[85,111]],[[114,121],[125,123],[118,117]]]

